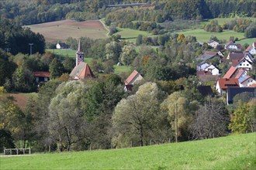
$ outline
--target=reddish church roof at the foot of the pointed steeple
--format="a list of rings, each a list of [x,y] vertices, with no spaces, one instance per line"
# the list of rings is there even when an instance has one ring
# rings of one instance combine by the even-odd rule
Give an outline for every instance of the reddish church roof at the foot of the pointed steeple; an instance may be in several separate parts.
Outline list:
[[[92,70],[88,63],[80,62],[78,66],[75,66],[70,76],[73,79],[85,79],[87,77],[94,77]]]

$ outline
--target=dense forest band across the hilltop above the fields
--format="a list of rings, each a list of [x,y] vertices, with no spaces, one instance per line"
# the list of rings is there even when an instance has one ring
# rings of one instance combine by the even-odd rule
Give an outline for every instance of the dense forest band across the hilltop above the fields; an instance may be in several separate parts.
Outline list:
[[[104,8],[109,4],[148,2],[149,8]],[[249,17],[255,15],[254,1],[132,1],[132,0],[25,0],[2,1],[0,18],[12,19],[20,25],[53,22],[61,19],[106,18],[128,26],[132,21],[164,22],[175,19],[212,19],[217,17]],[[125,15],[125,17],[122,17]]]

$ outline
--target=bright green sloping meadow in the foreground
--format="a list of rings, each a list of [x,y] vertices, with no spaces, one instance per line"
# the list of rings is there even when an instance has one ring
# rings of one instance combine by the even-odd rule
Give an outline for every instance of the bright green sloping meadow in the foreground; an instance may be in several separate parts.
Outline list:
[[[256,134],[99,151],[0,158],[1,169],[255,169]]]

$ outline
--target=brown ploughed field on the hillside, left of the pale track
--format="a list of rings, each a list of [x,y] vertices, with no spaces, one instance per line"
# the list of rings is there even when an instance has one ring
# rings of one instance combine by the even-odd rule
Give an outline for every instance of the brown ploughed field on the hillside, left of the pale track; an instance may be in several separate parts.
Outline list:
[[[47,42],[64,42],[68,37],[78,39],[81,36],[87,36],[92,39],[106,39],[108,32],[99,20],[89,20],[85,22],[63,20],[30,25],[27,27],[33,32],[42,34]]]

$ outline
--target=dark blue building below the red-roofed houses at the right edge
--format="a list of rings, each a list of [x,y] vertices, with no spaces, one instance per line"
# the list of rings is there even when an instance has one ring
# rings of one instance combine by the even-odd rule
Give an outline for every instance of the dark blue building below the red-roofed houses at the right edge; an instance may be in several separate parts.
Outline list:
[[[256,97],[256,87],[229,87],[227,89],[227,104],[233,104],[234,97],[244,92],[247,92],[250,97]]]

